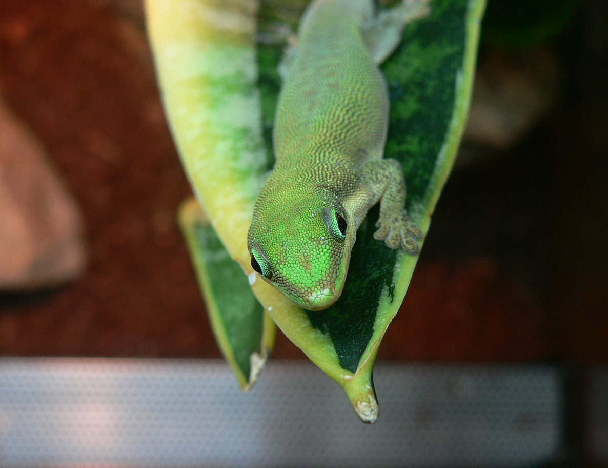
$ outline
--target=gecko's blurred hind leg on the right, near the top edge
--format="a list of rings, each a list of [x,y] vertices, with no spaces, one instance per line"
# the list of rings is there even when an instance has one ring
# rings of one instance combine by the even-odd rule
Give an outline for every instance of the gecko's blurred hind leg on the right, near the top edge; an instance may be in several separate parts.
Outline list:
[[[365,45],[377,64],[392,54],[401,42],[406,24],[430,13],[431,0],[402,0],[396,7],[381,10],[362,27]]]

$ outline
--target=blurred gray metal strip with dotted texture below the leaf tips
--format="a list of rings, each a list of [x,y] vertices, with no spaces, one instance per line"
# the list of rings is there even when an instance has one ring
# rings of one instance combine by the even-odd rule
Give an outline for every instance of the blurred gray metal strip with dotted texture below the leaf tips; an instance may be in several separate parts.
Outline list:
[[[359,422],[305,361],[242,394],[221,361],[1,358],[0,466],[530,466],[561,449],[550,366],[379,364]]]

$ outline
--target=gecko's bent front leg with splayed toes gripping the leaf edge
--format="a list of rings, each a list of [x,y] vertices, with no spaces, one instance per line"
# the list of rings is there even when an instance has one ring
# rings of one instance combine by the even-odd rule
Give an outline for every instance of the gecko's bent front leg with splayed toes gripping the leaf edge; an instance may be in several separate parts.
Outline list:
[[[364,180],[370,201],[370,208],[380,200],[380,216],[374,239],[384,240],[392,248],[402,248],[415,255],[420,251],[416,240],[423,238],[422,231],[410,220],[404,208],[406,183],[401,164],[395,159],[370,161],[364,166]]]

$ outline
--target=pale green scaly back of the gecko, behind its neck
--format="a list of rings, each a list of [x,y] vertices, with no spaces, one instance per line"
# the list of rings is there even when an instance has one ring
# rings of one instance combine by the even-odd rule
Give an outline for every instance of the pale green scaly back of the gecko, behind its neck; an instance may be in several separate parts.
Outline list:
[[[297,45],[284,59],[273,128],[278,162],[352,164],[361,148],[382,157],[389,102],[361,33],[372,15],[369,0],[322,0],[306,11]]]

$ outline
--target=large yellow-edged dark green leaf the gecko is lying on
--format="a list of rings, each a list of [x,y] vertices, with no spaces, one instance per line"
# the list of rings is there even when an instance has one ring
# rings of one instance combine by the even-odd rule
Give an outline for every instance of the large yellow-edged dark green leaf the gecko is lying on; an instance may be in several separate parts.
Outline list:
[[[147,0],[168,119],[210,225],[249,277],[266,313],[345,389],[359,417],[373,422],[376,352],[418,257],[373,239],[376,208],[357,233],[344,292],[330,309],[300,309],[253,273],[246,233],[260,176],[271,168],[282,54],[280,44],[256,46],[258,6],[245,0]],[[406,27],[401,46],[381,67],[391,99],[385,157],[401,161],[407,209],[425,233],[465,125],[484,7],[484,0],[432,1],[430,15]],[[209,264],[196,255],[195,265]],[[232,290],[232,284],[224,287]],[[221,299],[226,295],[204,289],[215,295],[208,307],[211,302],[218,310],[227,307]]]

